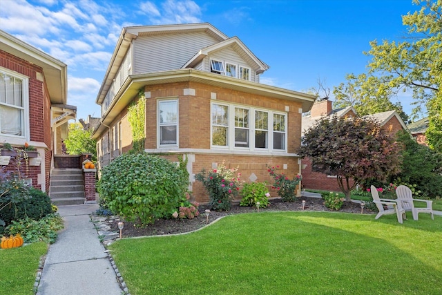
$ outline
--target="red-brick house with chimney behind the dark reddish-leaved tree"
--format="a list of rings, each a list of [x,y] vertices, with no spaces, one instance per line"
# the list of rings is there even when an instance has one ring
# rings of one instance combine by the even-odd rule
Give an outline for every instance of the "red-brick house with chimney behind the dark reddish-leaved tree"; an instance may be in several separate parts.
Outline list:
[[[311,126],[314,126],[323,116],[337,115],[338,117],[354,117],[356,111],[352,106],[333,110],[332,102],[328,99],[322,99],[311,107],[310,113],[302,116],[302,134],[304,134]],[[396,111],[387,111],[367,115],[381,123],[382,128],[391,134],[396,134],[399,130],[407,130],[403,120]],[[353,180],[350,180],[351,182]],[[354,182],[352,182],[354,183]],[[326,175],[311,171],[311,162],[308,158],[302,159],[302,188],[318,189],[323,191],[340,191],[336,175]]]

